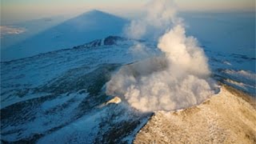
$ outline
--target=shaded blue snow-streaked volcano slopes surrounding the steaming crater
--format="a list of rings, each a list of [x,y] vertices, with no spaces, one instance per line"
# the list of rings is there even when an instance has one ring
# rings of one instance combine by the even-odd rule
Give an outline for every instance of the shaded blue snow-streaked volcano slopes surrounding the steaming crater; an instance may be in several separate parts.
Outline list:
[[[132,142],[151,114],[111,100],[116,95],[106,95],[105,85],[120,66],[139,60],[130,50],[138,42],[146,54],[159,54],[155,42],[109,36],[1,62],[2,142]],[[241,90],[254,94],[255,74],[236,67],[253,58],[206,54],[214,78],[242,82]]]

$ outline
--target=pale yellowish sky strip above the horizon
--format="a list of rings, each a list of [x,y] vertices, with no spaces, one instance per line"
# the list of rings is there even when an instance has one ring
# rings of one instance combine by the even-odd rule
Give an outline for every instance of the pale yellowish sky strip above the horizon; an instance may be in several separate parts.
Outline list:
[[[22,20],[75,15],[98,9],[135,14],[150,0],[1,0],[1,20]],[[255,0],[176,0],[181,11],[254,11]]]

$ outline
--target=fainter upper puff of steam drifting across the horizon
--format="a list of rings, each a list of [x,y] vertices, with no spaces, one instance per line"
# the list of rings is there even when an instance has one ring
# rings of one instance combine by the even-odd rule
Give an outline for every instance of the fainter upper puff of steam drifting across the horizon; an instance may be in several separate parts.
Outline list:
[[[181,23],[182,19],[176,17],[176,6],[171,0],[154,0],[146,5],[146,17],[132,20],[126,26],[124,33],[130,38],[149,37],[159,38],[172,23]]]

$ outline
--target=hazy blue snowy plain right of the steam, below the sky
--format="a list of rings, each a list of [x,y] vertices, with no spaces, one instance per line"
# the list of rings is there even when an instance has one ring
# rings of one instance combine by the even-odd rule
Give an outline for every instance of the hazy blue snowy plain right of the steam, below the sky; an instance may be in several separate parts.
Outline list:
[[[255,12],[183,13],[187,34],[207,50],[255,58]],[[255,66],[254,66],[255,71]]]

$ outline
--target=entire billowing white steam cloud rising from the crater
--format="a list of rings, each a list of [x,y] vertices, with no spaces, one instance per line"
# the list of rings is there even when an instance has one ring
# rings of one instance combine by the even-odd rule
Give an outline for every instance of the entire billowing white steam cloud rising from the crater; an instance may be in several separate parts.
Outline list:
[[[186,37],[173,2],[154,0],[150,4],[147,17],[131,22],[126,34],[141,38],[147,31],[159,34],[165,28],[166,33],[158,38],[162,54],[122,66],[107,83],[106,93],[142,111],[177,110],[203,102],[214,94],[215,86],[203,50],[196,38]]]

